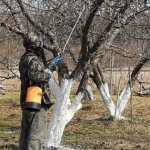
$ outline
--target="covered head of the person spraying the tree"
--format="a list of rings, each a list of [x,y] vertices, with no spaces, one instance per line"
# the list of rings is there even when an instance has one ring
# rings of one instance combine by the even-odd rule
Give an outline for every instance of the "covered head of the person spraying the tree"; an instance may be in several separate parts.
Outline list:
[[[39,49],[43,48],[42,40],[37,35],[35,35],[33,32],[28,34],[24,38],[23,45],[26,49],[30,49],[33,51],[38,51]]]

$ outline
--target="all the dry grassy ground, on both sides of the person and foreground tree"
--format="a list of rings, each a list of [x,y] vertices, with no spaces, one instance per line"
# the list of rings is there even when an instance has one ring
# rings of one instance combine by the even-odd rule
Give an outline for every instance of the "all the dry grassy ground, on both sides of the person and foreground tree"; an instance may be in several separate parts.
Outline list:
[[[114,96],[113,96],[114,98]],[[21,109],[19,93],[0,95],[0,149],[18,150]],[[49,119],[52,109],[49,110]],[[149,150],[150,97],[134,96],[128,102],[126,121],[110,121],[99,95],[84,101],[66,126],[62,145],[80,150]]]

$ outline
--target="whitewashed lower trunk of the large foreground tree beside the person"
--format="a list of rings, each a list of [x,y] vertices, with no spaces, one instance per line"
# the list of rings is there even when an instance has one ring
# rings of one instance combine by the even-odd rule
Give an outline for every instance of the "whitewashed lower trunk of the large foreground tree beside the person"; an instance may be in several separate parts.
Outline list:
[[[72,82],[73,80],[64,79],[61,87],[59,87],[53,79],[49,81],[56,102],[45,138],[45,148],[59,147],[66,124],[72,119],[75,112],[82,107],[82,93],[79,93],[72,103],[69,99]]]

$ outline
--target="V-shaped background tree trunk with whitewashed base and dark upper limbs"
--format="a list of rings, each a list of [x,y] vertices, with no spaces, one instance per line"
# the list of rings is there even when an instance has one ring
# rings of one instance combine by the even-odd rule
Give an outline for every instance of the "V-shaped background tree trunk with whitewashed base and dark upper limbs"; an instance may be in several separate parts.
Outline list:
[[[108,84],[105,82],[104,75],[100,66],[98,64],[94,66],[93,81],[96,84],[103,98],[103,101],[110,113],[110,116],[112,116],[114,119],[116,120],[124,119],[122,113],[125,110],[127,102],[131,96],[131,86],[134,84],[136,77],[140,73],[142,67],[149,61],[149,59],[150,59],[150,51],[147,51],[145,56],[143,56],[143,58],[134,67],[131,73],[131,80],[128,81],[127,85],[125,86],[125,88],[123,89],[123,91],[121,92],[120,96],[117,99],[116,109],[114,102],[110,97]]]

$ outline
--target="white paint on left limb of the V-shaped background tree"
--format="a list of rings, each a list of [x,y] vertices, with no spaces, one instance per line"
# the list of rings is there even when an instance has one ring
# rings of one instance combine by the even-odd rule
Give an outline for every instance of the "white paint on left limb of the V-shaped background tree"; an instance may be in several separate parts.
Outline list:
[[[99,91],[100,91],[100,94],[103,98],[103,101],[104,101],[107,109],[109,110],[110,116],[114,116],[115,115],[115,105],[110,97],[108,84],[107,83],[102,84],[99,88]]]

